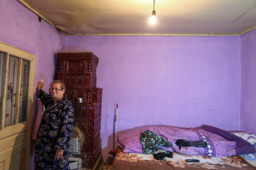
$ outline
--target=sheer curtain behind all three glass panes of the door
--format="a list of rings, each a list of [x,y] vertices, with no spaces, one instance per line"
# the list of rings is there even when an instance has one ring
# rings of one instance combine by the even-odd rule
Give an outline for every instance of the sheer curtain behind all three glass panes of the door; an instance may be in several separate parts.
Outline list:
[[[18,81],[18,73],[19,73],[19,65],[20,58],[9,56],[9,64],[8,64],[8,75],[7,75],[7,89],[6,89],[6,106],[5,106],[5,115],[1,115],[0,122],[2,117],[5,117],[5,126],[10,126],[14,124],[15,120],[15,110],[17,107],[17,103],[19,105],[18,110],[18,123],[26,120],[27,115],[27,80],[29,73],[29,61],[22,61],[21,68],[21,86],[19,94],[17,85]],[[0,110],[2,110],[2,101],[3,97],[3,88],[4,88],[4,80],[5,80],[5,67],[6,67],[6,54],[0,52]],[[19,95],[19,101],[16,101],[17,96]],[[1,123],[0,123],[1,124]]]

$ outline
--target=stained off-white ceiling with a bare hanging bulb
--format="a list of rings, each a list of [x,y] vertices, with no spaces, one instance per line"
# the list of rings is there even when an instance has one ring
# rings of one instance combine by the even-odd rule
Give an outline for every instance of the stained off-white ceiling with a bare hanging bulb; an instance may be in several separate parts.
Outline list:
[[[67,35],[241,35],[256,0],[17,0]]]

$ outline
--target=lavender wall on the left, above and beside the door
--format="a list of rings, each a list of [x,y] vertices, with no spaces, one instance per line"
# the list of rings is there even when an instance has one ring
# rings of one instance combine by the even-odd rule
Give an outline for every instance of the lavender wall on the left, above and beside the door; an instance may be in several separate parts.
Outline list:
[[[43,90],[47,92],[55,70],[53,54],[62,48],[61,36],[45,21],[40,23],[36,15],[16,0],[0,1],[0,41],[35,54],[33,122],[38,107],[35,96],[37,83],[43,78]],[[34,167],[34,146],[31,139],[31,169]]]

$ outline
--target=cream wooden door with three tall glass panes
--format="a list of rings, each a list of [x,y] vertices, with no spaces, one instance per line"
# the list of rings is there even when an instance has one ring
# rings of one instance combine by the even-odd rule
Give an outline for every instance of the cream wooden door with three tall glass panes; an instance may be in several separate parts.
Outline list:
[[[28,170],[33,54],[0,42],[0,170]]]

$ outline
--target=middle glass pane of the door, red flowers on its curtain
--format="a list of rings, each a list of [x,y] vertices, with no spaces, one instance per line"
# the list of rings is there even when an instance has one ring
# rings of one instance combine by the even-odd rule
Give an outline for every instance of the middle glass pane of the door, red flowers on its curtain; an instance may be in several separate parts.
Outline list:
[[[19,58],[10,56],[7,75],[6,107],[5,107],[5,126],[14,124],[15,101],[17,90],[17,79],[19,72]]]

